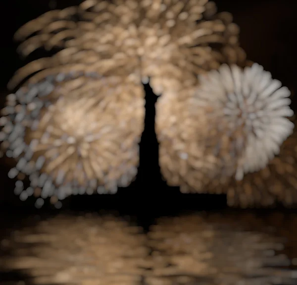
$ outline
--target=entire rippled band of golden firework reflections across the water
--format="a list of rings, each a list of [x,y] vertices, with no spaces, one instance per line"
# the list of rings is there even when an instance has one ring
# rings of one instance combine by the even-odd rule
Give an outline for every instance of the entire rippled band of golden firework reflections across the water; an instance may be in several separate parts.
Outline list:
[[[31,220],[32,221],[32,220]],[[297,284],[297,215],[197,213],[145,234],[113,216],[58,215],[1,241],[1,269],[26,284]]]

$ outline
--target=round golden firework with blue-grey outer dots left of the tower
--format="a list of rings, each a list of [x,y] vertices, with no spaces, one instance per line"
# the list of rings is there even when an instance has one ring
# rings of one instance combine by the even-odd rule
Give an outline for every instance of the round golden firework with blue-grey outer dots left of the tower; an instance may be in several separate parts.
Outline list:
[[[7,100],[0,139],[17,160],[8,176],[19,178],[22,200],[33,192],[53,203],[77,193],[114,193],[135,178],[144,95],[131,78],[58,74]]]

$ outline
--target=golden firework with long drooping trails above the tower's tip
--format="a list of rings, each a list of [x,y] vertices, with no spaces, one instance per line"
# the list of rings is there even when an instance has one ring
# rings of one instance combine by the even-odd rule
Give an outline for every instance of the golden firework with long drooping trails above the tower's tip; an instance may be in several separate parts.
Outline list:
[[[19,47],[25,56],[41,46],[64,49],[55,60],[40,61],[40,69],[77,61],[104,62],[112,72],[125,66],[126,72],[140,70],[143,81],[150,79],[161,94],[181,82],[195,83],[196,74],[218,68],[227,54],[244,60],[238,34],[232,16],[216,13],[208,0],[86,0],[27,23],[16,39],[27,39]],[[32,72],[30,66],[26,70]],[[22,78],[17,74],[11,86]]]

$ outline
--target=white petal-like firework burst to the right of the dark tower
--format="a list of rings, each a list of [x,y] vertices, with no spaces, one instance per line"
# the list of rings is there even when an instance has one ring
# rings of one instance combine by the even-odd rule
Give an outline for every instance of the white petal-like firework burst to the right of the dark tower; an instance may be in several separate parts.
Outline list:
[[[288,119],[294,114],[290,90],[257,63],[244,69],[223,64],[198,78],[195,107],[211,107],[208,115],[221,117],[222,125],[237,134],[232,141],[241,149],[236,179],[265,168],[294,129]]]

